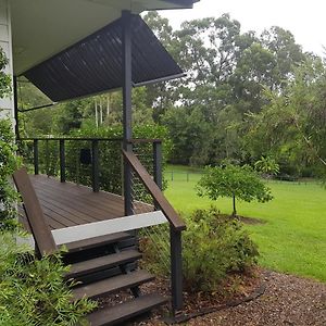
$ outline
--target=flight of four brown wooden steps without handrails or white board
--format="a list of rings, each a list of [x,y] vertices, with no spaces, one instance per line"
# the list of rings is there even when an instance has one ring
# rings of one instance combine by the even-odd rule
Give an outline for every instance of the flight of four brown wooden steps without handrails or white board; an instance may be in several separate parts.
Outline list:
[[[141,253],[133,247],[128,233],[118,233],[68,243],[65,262],[72,264],[66,279],[74,279],[74,300],[99,299],[129,290],[131,299],[124,303],[99,308],[87,316],[91,326],[116,325],[150,312],[167,302],[158,293],[141,293],[139,286],[154,277],[137,268]]]

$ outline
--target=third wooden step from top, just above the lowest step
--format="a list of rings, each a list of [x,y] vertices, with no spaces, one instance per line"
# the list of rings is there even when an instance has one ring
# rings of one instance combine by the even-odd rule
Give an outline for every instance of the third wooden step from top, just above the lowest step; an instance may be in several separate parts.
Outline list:
[[[154,277],[146,271],[136,271],[129,274],[114,276],[73,289],[74,300],[79,300],[83,297],[103,297],[118,290],[136,287],[153,279]]]

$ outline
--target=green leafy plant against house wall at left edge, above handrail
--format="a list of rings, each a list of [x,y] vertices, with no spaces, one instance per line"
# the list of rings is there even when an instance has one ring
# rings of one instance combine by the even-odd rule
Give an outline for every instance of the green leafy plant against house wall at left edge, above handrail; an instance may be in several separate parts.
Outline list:
[[[10,181],[21,163],[16,149],[10,121],[0,120],[0,228],[14,226],[16,217],[18,197]]]

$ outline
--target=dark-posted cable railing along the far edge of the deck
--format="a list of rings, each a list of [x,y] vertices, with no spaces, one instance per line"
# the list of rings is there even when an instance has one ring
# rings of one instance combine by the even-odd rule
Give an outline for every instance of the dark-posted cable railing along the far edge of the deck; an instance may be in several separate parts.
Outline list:
[[[66,165],[66,145],[71,145],[72,142],[79,142],[80,148],[79,150],[85,147],[89,150],[89,172],[84,171],[83,177],[85,178],[86,174],[89,175],[89,183],[87,181],[80,181],[82,184],[86,184],[86,186],[91,186],[92,190],[95,192],[98,192],[100,189],[106,190],[110,192],[114,192],[116,195],[123,195],[123,168],[122,168],[122,155],[121,155],[121,149],[123,139],[122,138],[70,138],[70,137],[35,137],[35,138],[21,138],[21,143],[29,145],[27,150],[23,150],[23,155],[26,156],[26,163],[32,164],[34,166],[34,174],[38,175],[40,172],[49,175],[49,176],[58,176],[60,177],[61,183],[65,183],[66,180],[75,181],[75,179],[72,179],[72,177],[67,177],[67,172],[70,175],[72,175],[72,171],[76,171],[75,174],[77,175],[77,183],[79,183],[82,173],[79,170],[79,152],[78,150],[75,151],[76,158],[75,160],[75,166],[67,166]],[[153,175],[154,180],[162,185],[162,141],[160,139],[133,139],[130,140],[135,147],[140,147],[139,155],[147,156],[146,160],[142,162],[146,162],[146,167],[150,171],[150,173]],[[33,143],[33,147],[30,146]],[[43,145],[43,155],[40,155],[40,146]],[[50,145],[52,146],[52,149],[50,148]],[[103,162],[104,158],[101,158],[101,149],[115,149],[112,154],[115,155],[115,158],[112,159],[112,162],[114,162],[114,166],[105,166],[108,162]],[[22,147],[23,148],[23,147]],[[54,149],[55,148],[55,149]],[[142,148],[142,149],[141,149]],[[146,150],[143,150],[146,148]],[[30,150],[33,151],[33,154],[30,153]],[[52,152],[51,152],[52,151]],[[54,151],[54,153],[53,153]],[[30,155],[32,154],[32,155]],[[59,165],[51,166],[51,155],[55,155],[57,159],[54,160],[54,164]],[[110,153],[111,154],[111,153]],[[29,156],[27,159],[27,156]],[[53,159],[53,158],[52,158]],[[43,168],[40,168],[40,162],[43,162]],[[79,165],[78,165],[79,164]],[[110,165],[110,162],[108,163]],[[101,167],[105,167],[106,170],[111,170],[112,173],[110,175],[110,178],[116,178],[116,180],[120,183],[115,187],[110,187],[105,184],[105,180],[102,180],[103,178],[100,178],[101,175]],[[103,168],[102,168],[103,170]],[[115,171],[113,171],[115,170]],[[103,173],[103,172],[102,172]],[[103,185],[101,184],[103,181]]]

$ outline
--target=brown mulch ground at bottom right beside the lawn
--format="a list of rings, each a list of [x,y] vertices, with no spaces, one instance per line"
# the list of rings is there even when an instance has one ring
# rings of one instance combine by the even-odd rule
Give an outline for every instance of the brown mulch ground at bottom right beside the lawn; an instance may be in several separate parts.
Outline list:
[[[326,284],[276,272],[260,271],[238,286],[233,298],[186,293],[183,316],[203,314],[181,325],[326,326]],[[215,311],[204,314],[205,312]],[[162,326],[166,310],[136,325]]]

